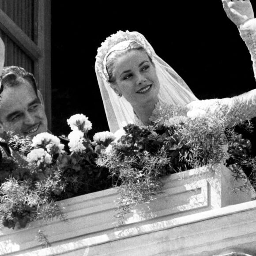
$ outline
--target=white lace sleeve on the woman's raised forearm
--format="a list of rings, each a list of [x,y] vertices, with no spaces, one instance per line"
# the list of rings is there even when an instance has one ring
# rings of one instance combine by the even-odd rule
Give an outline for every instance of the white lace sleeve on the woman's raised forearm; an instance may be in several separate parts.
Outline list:
[[[240,25],[239,33],[251,53],[252,67],[256,79],[256,19],[250,19],[245,24]]]

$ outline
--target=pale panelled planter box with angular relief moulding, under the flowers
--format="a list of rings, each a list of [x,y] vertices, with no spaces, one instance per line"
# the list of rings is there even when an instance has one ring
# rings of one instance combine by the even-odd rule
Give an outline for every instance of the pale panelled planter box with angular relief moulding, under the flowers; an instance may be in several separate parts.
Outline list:
[[[124,226],[118,228],[114,217],[119,196],[117,189],[63,200],[60,206],[67,214],[67,223],[54,219],[42,227],[37,221],[29,223],[24,229],[3,228],[0,231],[0,254],[19,255],[39,250],[39,243],[34,241],[39,229],[48,235],[54,248],[251,200],[251,195],[246,192],[233,193],[235,186],[230,170],[222,165],[215,166],[211,171],[200,168],[172,174],[165,177],[163,193],[150,203],[132,207]]]

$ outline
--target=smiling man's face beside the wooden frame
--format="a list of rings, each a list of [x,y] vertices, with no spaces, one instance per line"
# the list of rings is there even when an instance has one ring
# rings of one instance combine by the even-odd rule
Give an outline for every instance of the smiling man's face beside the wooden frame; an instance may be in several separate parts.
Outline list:
[[[44,106],[27,80],[5,87],[1,96],[1,132],[13,131],[14,134],[33,138],[47,131]]]

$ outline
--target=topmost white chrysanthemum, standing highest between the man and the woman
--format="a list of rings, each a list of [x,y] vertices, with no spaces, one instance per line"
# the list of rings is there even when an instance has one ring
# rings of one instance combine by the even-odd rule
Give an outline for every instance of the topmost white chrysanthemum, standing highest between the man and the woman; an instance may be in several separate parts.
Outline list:
[[[69,119],[67,119],[68,125],[71,130],[80,130],[82,132],[88,132],[92,128],[91,122],[83,114],[75,114]]]

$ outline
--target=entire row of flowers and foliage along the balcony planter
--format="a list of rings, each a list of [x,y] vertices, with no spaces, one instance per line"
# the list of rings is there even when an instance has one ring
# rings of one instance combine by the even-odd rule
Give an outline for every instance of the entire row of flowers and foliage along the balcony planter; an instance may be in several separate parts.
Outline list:
[[[67,120],[72,131],[62,141],[49,133],[32,140],[8,133],[1,142],[7,153],[0,159],[0,222],[15,228],[37,219],[65,220],[58,200],[117,187],[121,224],[131,204],[148,202],[161,192],[163,176],[211,169],[226,160],[235,178],[249,168],[253,179],[256,160],[248,154],[250,142],[234,129],[245,120],[237,109],[222,107],[209,115],[161,106],[152,125],[128,124],[115,135],[98,132],[93,139],[88,135],[92,124],[82,114]],[[250,129],[249,122],[243,125]]]

